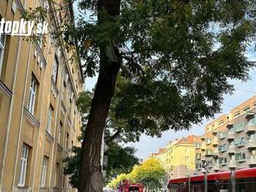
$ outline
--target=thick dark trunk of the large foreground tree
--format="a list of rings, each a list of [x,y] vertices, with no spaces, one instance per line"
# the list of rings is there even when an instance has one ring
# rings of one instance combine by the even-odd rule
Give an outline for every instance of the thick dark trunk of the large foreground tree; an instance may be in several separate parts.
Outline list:
[[[110,22],[114,16],[119,15],[119,7],[119,0],[99,0],[98,9],[104,9],[109,17],[100,18],[99,15],[98,22]],[[109,57],[109,46],[113,57]],[[119,58],[119,50],[113,46],[112,42],[100,48],[99,77],[88,115],[85,138],[82,142],[80,192],[102,191],[102,167],[100,165],[102,134],[116,86],[116,75],[121,63]]]

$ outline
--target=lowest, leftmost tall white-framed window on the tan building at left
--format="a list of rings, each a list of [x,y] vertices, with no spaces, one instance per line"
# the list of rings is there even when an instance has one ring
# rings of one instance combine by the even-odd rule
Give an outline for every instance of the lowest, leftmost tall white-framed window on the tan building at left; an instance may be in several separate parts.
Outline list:
[[[28,158],[29,158],[29,147],[26,145],[23,145],[22,156],[20,158],[20,171],[19,171],[19,183],[18,183],[18,186],[20,187],[25,186]]]

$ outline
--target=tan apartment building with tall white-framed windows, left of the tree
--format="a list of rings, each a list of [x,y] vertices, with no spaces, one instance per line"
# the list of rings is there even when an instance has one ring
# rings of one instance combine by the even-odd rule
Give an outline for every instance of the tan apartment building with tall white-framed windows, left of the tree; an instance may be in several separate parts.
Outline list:
[[[61,3],[61,0],[59,1]],[[0,17],[19,21],[19,10],[44,6],[57,28],[61,12],[43,0],[1,0]],[[19,10],[18,10],[19,9]],[[72,12],[69,12],[71,19]],[[72,20],[70,20],[72,22]],[[0,191],[73,191],[62,159],[79,146],[81,115],[75,106],[83,89],[76,53],[53,36],[27,42],[0,35]]]

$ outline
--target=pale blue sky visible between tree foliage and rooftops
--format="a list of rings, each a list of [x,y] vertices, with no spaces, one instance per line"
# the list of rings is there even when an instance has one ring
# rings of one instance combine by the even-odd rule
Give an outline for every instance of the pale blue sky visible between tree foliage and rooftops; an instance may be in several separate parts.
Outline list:
[[[256,53],[254,52],[254,50],[248,51],[247,57],[249,60],[256,61]],[[222,112],[220,114],[216,114],[215,118],[223,113],[228,113],[235,106],[256,95],[256,69],[250,70],[249,74],[251,76],[251,79],[247,82],[230,81],[232,84],[234,84],[235,91],[232,95],[224,95],[223,105],[221,107]],[[92,90],[92,88],[95,87],[96,81],[97,77],[87,78],[85,80],[86,90]],[[134,146],[137,149],[137,157],[139,157],[140,159],[146,159],[148,156],[150,156],[150,153],[156,153],[159,148],[164,148],[164,146],[166,146],[167,143],[171,140],[175,140],[187,135],[204,134],[204,125],[206,125],[210,121],[211,119],[205,119],[199,125],[192,125],[192,129],[190,129],[189,131],[183,130],[175,132],[171,130],[168,132],[163,132],[161,138],[152,138],[147,135],[142,135],[140,137],[140,142],[129,143],[128,146]]]

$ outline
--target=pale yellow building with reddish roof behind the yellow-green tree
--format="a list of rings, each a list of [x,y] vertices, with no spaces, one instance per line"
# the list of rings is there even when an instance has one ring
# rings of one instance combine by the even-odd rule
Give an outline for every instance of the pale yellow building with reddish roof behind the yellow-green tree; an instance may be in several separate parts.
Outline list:
[[[168,142],[164,149],[158,153],[152,153],[150,158],[161,161],[164,170],[168,173],[168,179],[185,177],[195,173],[195,135],[189,135],[182,139]]]

